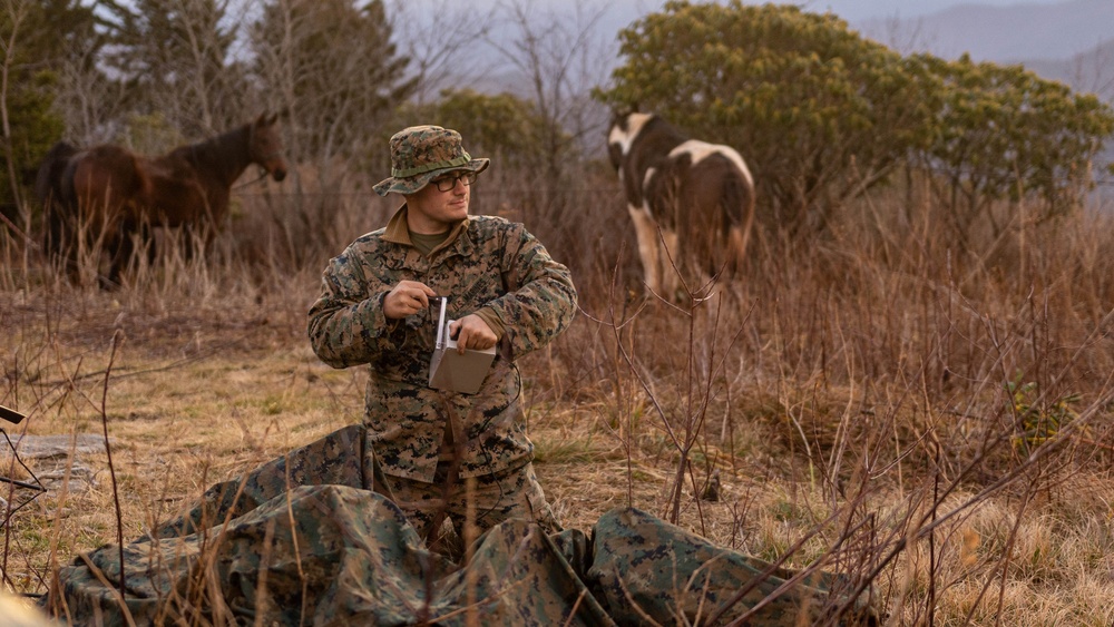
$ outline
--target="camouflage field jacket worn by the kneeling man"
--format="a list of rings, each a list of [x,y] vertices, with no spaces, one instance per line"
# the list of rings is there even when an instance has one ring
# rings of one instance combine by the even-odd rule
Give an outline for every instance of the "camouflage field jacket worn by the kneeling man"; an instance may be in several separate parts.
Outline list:
[[[455,447],[461,478],[517,468],[532,459],[534,444],[511,362],[571,322],[576,288],[568,268],[521,224],[492,216],[469,217],[455,241],[427,258],[405,243],[405,210],[330,261],[309,314],[313,350],[333,368],[370,366],[364,422],[385,473],[432,481],[450,414],[462,427],[456,432],[463,443]],[[504,323],[499,355],[478,393],[429,388],[439,310],[432,304],[388,321],[383,298],[403,280],[447,296],[448,319],[486,306]]]

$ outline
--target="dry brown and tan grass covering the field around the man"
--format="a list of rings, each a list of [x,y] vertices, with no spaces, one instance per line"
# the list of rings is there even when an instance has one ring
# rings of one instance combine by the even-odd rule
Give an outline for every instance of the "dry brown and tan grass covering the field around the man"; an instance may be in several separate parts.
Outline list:
[[[380,223],[330,202],[303,203],[335,217],[300,262],[311,214],[282,198],[205,263],[140,268],[115,292],[68,286],[33,247],[0,242],[0,402],[29,414],[7,430],[99,434],[107,418],[124,521],[106,455],[85,457],[91,482],[12,518],[16,590],[41,592],[76,551],[360,420],[364,373],[321,364],[304,315],[329,254]],[[893,625],[1114,620],[1104,214],[958,251],[931,206],[881,197],[828,237],[765,233],[745,280],[668,307],[639,295],[622,212],[521,212],[582,295],[570,331],[521,364],[538,473],[566,526],[626,504],[675,516],[765,560],[869,579]],[[695,499],[716,472],[721,499]]]

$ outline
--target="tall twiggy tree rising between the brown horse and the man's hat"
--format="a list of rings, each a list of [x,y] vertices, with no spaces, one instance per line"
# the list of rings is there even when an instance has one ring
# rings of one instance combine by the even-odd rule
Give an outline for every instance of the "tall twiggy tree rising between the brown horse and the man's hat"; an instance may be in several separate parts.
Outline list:
[[[251,43],[254,77],[286,114],[287,158],[299,164],[284,184],[296,203],[275,219],[301,262],[334,246],[346,202],[369,202],[374,182],[365,173],[382,170],[367,161],[383,153],[385,121],[414,80],[404,76],[409,59],[391,42],[381,0],[272,0]]]

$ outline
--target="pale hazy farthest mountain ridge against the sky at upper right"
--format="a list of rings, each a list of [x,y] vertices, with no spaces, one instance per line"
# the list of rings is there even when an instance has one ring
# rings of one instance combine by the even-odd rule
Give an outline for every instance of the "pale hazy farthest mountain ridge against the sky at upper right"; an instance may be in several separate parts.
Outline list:
[[[955,59],[967,52],[975,60],[998,62],[1067,59],[1114,37],[1114,1],[971,3],[916,18],[857,21],[852,28],[906,53]]]

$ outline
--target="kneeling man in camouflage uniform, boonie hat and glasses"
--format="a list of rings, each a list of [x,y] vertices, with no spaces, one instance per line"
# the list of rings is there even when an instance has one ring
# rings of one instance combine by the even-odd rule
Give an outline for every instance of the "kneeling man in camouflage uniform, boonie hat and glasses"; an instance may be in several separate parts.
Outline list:
[[[374,188],[405,204],[330,261],[309,314],[313,350],[333,368],[370,366],[364,423],[385,482],[374,488],[422,537],[436,541],[444,516],[460,530],[522,518],[558,531],[531,464],[515,360],[571,322],[568,268],[521,224],[468,215],[489,160],[471,158],[459,133],[410,127],[390,147],[391,177]],[[476,394],[428,384],[441,296],[461,352],[498,347]]]

